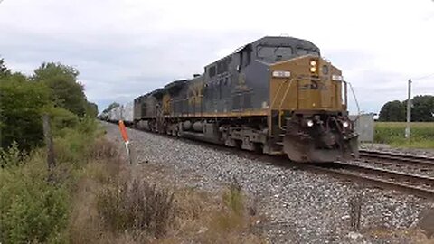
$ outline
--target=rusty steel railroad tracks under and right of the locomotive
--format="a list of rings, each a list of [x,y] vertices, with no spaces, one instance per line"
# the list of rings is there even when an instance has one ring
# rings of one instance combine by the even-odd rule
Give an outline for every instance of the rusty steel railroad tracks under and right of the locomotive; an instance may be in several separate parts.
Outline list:
[[[173,138],[172,136],[168,137]],[[380,151],[360,150],[361,158],[368,159],[366,162],[368,164],[373,163],[372,165],[357,164],[357,161],[334,162],[330,164],[296,164],[290,162],[288,158],[284,156],[259,155],[226,146],[213,145],[200,141],[191,141],[189,139],[185,140],[189,141],[190,143],[193,142],[197,145],[212,147],[214,149],[230,152],[232,154],[239,154],[254,158],[260,157],[261,160],[269,162],[270,164],[275,164],[277,166],[292,166],[299,169],[314,171],[320,174],[331,174],[338,178],[344,178],[357,183],[367,183],[383,189],[398,190],[424,198],[434,199],[434,177],[405,173],[402,171],[403,167],[400,171],[384,168],[384,162],[388,162],[387,164],[430,166],[434,169],[434,158],[429,158],[426,156],[401,155]],[[381,164],[377,162],[379,160],[382,162]]]

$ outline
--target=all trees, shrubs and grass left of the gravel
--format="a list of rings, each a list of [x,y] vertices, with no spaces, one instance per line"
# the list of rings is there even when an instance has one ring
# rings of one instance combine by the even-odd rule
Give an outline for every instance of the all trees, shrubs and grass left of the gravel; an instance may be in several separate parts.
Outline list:
[[[0,243],[265,243],[236,181],[216,197],[126,164],[78,75],[51,62],[26,76],[0,59]]]

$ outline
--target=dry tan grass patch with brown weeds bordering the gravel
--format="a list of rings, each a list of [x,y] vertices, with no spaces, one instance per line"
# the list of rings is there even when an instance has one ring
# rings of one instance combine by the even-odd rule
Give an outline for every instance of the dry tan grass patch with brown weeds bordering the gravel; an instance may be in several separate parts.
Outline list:
[[[220,196],[163,181],[153,165],[131,166],[100,141],[82,169],[67,229],[71,243],[265,243],[253,233],[241,186]],[[116,153],[114,153],[116,152]],[[137,174],[138,173],[138,174]],[[254,223],[254,222],[253,222]]]

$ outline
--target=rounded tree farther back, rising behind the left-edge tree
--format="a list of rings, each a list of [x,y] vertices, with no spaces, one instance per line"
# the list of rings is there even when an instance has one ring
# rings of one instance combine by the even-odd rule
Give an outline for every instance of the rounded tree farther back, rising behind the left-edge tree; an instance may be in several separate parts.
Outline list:
[[[87,101],[83,86],[77,82],[79,71],[61,63],[42,63],[34,70],[33,80],[52,89],[54,104],[83,117]]]

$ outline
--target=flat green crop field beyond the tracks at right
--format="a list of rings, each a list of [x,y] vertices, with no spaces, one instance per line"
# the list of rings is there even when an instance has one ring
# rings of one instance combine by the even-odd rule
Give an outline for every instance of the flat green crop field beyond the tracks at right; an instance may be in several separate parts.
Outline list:
[[[434,148],[434,123],[412,122],[410,140],[404,137],[405,127],[405,122],[376,122],[374,141],[392,146]]]

